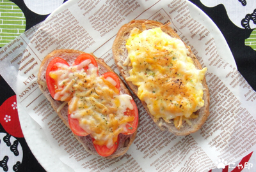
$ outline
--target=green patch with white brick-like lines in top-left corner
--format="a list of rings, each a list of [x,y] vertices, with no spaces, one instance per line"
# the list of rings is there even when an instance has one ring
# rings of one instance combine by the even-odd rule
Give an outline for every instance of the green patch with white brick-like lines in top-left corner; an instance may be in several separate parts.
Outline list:
[[[6,45],[26,29],[26,18],[15,3],[0,0],[0,47]]]

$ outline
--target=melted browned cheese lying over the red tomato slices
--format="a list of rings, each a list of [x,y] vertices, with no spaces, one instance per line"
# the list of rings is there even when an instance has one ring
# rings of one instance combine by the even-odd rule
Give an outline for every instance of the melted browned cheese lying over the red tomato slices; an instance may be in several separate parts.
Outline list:
[[[51,78],[58,81],[54,98],[68,101],[68,113],[95,138],[95,144],[111,148],[118,134],[127,130],[127,123],[134,120],[124,115],[127,108],[133,110],[132,97],[119,94],[116,82],[110,77],[98,76],[97,68],[89,63],[90,60],[72,66],[56,64],[59,69],[50,73]],[[88,64],[85,73],[83,66]]]

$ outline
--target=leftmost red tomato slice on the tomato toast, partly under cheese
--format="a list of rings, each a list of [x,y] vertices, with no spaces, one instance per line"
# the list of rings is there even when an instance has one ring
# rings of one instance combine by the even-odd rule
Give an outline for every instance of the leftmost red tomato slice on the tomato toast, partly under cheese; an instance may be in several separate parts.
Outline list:
[[[54,95],[55,95],[55,91],[56,91],[56,87],[57,87],[57,86],[56,86],[56,85],[57,85],[57,82],[56,82],[56,80],[52,79],[52,78],[49,76],[49,73],[50,73],[51,71],[56,71],[56,70],[58,69],[58,67],[55,66],[55,64],[58,63],[58,62],[60,62],[60,63],[62,63],[62,64],[67,64],[67,65],[69,66],[68,62],[65,61],[64,59],[61,59],[60,57],[54,58],[54,59],[48,64],[47,69],[46,69],[46,83],[47,83],[47,87],[48,87],[48,89],[49,89],[50,94],[51,94],[52,97],[54,97]],[[60,98],[61,98],[61,97],[60,97]],[[57,99],[57,100],[60,100],[60,98]]]

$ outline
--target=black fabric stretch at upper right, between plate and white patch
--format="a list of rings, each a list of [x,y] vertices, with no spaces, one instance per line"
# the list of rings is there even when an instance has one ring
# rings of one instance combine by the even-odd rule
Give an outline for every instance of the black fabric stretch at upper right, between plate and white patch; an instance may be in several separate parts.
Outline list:
[[[208,8],[199,0],[189,1],[204,11],[218,26],[223,36],[227,40],[236,61],[238,71],[244,76],[253,90],[256,90],[256,51],[251,47],[244,45],[244,40],[250,37],[253,29],[241,29],[233,24],[229,20],[227,11],[225,10],[223,4],[219,4],[213,8]]]

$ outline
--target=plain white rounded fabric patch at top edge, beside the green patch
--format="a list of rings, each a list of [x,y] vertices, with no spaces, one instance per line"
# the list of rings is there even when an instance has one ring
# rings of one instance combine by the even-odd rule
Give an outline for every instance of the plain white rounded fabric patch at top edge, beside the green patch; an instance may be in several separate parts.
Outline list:
[[[47,15],[61,6],[63,0],[24,0],[24,3],[34,13]]]

